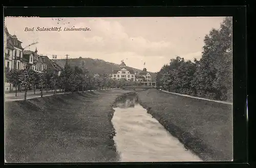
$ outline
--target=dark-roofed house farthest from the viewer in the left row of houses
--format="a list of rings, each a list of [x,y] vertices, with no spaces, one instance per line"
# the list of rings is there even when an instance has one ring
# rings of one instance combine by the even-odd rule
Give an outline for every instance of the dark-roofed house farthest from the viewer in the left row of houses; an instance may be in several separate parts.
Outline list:
[[[47,68],[45,69],[46,73],[56,74],[60,75],[61,70],[63,69],[61,66],[59,66],[54,60],[49,59],[47,56],[40,56],[42,59],[42,62],[47,64]]]

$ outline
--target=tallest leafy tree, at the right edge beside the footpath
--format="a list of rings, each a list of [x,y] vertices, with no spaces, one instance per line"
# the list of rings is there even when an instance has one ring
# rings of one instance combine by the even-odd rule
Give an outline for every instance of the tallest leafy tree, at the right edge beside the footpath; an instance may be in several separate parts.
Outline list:
[[[220,30],[205,36],[203,55],[193,85],[198,96],[232,100],[232,18],[226,17]]]

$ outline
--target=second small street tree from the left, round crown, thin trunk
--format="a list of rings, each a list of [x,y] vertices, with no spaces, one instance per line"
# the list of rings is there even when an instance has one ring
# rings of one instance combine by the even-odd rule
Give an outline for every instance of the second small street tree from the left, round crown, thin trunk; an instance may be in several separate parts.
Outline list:
[[[25,88],[25,94],[24,94],[24,100],[27,100],[27,91],[30,85],[33,82],[33,74],[34,70],[32,69],[23,69],[21,70],[21,73],[18,75],[18,79],[20,81],[20,84],[24,86]]]

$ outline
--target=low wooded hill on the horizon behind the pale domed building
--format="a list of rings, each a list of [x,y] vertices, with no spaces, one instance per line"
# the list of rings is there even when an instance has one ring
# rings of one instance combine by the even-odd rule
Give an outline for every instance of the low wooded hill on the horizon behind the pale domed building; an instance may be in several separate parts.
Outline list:
[[[84,62],[84,69],[88,69],[93,74],[112,74],[112,69],[114,70],[119,68],[119,64],[106,62],[100,59],[82,58],[82,57],[68,59],[68,64],[70,65],[70,67],[78,66],[82,68],[82,61]],[[59,66],[64,68],[66,64],[66,59],[56,59],[55,62]],[[130,67],[130,68],[132,68],[134,71],[138,71],[138,73],[142,71],[141,69],[136,69],[133,67]],[[151,73],[151,78],[152,78],[152,81],[155,81],[156,73]]]

